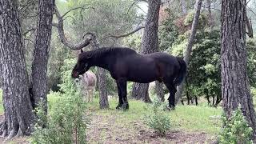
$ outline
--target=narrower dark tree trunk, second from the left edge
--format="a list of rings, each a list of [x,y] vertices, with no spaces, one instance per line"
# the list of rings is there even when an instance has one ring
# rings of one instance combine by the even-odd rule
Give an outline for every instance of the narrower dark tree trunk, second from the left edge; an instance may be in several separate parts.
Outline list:
[[[38,26],[34,44],[34,60],[32,62],[32,73],[30,90],[32,105],[38,106],[42,102],[45,113],[47,113],[47,64],[49,58],[50,38],[52,20],[54,14],[54,0],[39,0],[38,2]]]

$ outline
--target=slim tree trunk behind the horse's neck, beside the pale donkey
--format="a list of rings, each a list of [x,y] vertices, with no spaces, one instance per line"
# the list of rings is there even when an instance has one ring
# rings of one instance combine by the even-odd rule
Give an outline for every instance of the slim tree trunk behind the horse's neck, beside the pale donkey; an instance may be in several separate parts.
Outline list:
[[[99,49],[98,41],[94,34],[91,34],[91,42],[93,50]],[[106,70],[98,67],[97,68],[97,78],[98,78],[98,90],[99,90],[99,106],[101,109],[109,108],[109,101],[107,98],[107,88],[106,88]]]

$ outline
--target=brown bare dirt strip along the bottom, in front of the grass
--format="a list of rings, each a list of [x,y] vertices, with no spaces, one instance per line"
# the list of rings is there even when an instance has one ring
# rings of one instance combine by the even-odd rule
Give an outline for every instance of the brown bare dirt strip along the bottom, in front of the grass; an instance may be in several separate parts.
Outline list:
[[[3,116],[0,115],[0,121]],[[91,122],[87,130],[88,143],[214,143],[214,137],[206,133],[188,133],[185,130],[172,130],[161,137],[148,129],[142,122],[119,122],[116,116],[91,115]],[[0,143],[29,143],[27,138],[14,138],[11,142]]]

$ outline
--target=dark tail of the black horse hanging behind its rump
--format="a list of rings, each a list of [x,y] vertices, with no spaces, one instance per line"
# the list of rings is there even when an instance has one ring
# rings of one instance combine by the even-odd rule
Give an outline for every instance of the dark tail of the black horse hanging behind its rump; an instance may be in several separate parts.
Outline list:
[[[174,79],[174,85],[178,86],[182,83],[182,81],[185,79],[186,77],[186,62],[179,57],[176,57],[180,66],[180,69],[178,71],[178,74],[176,76],[176,78]]]

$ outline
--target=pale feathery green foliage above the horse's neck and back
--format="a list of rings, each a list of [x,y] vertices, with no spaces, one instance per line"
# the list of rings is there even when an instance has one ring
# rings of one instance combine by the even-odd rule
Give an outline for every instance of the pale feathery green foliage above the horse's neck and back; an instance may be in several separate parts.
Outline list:
[[[137,21],[136,7],[131,6],[131,0],[79,0],[66,2],[67,9],[77,6],[85,6],[83,10],[76,10],[69,15],[73,25],[74,37],[85,32],[94,32],[103,45],[112,45],[106,34],[124,34],[131,30],[134,22]],[[103,39],[102,39],[103,38]]]

